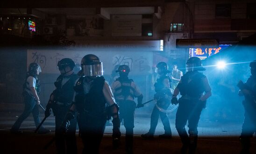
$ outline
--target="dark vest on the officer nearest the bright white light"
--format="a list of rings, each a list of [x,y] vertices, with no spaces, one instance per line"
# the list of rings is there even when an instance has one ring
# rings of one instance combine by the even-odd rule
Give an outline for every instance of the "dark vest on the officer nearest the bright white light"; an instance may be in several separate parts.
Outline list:
[[[181,77],[182,82],[178,84],[181,95],[188,95],[193,98],[200,98],[204,93],[202,78],[206,76],[197,71],[187,72]]]

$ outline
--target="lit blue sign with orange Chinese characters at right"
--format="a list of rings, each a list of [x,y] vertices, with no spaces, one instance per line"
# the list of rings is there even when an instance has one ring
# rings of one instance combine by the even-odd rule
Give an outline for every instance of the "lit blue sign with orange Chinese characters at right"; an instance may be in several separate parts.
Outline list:
[[[199,57],[200,59],[206,59],[214,54],[223,51],[225,48],[231,45],[220,45],[217,48],[189,48],[189,54],[191,57]]]

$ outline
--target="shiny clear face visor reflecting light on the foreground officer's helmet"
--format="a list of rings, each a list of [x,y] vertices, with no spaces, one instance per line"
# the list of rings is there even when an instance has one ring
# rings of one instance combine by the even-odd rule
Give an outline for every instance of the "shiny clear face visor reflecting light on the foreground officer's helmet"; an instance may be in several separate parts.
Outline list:
[[[102,62],[94,65],[83,65],[83,73],[85,76],[102,76],[103,75]]]

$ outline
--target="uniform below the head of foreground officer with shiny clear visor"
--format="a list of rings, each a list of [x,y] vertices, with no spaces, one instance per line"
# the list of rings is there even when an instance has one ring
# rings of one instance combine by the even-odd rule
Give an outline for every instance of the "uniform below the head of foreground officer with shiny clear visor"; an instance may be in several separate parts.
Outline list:
[[[78,126],[84,144],[83,154],[98,153],[107,121],[106,104],[115,104],[114,96],[104,77],[90,82],[81,77],[75,86],[74,102],[78,110]]]

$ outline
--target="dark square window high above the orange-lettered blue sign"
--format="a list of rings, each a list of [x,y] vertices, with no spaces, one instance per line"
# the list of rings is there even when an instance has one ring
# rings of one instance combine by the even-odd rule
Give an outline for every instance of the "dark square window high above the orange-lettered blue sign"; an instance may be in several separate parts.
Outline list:
[[[231,17],[231,4],[216,4],[215,17],[216,18],[230,18]]]

